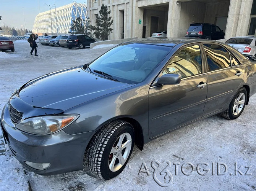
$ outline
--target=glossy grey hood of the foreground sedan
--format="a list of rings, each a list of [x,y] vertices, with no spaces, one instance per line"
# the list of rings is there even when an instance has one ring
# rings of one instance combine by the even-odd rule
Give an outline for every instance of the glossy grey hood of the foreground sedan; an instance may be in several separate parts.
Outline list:
[[[102,78],[76,67],[37,78],[21,87],[18,95],[34,107],[65,111],[133,85]]]

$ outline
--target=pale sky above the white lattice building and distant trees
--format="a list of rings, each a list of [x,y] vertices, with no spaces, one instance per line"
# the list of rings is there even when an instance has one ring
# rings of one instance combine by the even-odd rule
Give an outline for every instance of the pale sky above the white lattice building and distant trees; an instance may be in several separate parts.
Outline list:
[[[55,2],[57,8],[73,3],[74,0],[55,0]],[[87,0],[76,0],[76,2],[86,3]],[[45,3],[54,6],[54,0],[0,0],[0,16],[2,16],[0,26],[21,28],[26,25],[28,30],[32,30],[36,15],[50,10]]]

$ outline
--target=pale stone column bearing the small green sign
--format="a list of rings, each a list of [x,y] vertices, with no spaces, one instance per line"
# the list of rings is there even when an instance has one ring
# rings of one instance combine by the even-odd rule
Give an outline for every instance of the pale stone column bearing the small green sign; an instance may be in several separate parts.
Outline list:
[[[137,6],[137,1],[133,0],[132,37],[142,38],[143,10]],[[139,19],[141,19],[141,24],[139,24]]]

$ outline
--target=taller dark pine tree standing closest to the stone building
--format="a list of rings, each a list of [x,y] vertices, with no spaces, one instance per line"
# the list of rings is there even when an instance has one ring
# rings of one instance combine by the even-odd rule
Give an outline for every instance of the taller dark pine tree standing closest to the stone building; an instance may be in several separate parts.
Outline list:
[[[108,15],[111,10],[108,11],[107,5],[102,4],[99,10],[100,16],[96,15],[96,26],[92,26],[91,29],[94,30],[94,35],[101,40],[107,40],[108,36],[112,32],[111,25],[113,24],[113,19]]]

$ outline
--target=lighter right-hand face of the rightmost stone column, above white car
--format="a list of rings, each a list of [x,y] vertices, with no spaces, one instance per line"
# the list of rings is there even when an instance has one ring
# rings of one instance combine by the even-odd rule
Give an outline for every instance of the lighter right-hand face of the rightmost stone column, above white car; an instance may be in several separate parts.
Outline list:
[[[236,36],[246,36],[251,16],[253,0],[242,0]]]

